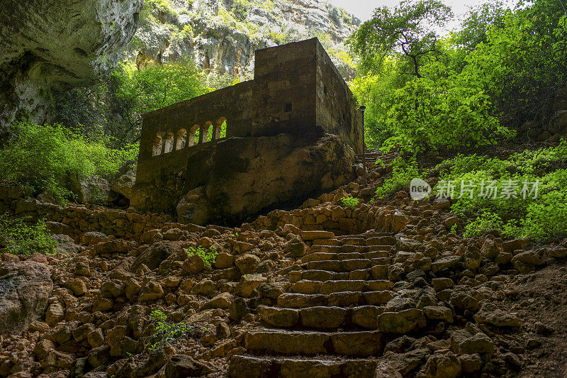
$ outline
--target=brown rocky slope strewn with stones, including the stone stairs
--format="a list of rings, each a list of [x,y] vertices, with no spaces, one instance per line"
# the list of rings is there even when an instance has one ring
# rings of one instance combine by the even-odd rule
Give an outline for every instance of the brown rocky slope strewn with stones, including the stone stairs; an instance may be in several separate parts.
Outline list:
[[[0,376],[564,376],[567,240],[461,238],[448,200],[371,201],[387,172],[239,228],[2,254]]]

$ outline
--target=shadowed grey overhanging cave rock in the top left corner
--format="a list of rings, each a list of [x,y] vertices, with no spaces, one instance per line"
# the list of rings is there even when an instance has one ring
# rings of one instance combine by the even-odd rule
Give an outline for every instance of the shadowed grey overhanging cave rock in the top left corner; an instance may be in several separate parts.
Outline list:
[[[135,33],[142,0],[7,0],[0,27],[0,135],[18,111],[45,116],[42,91],[89,83]]]

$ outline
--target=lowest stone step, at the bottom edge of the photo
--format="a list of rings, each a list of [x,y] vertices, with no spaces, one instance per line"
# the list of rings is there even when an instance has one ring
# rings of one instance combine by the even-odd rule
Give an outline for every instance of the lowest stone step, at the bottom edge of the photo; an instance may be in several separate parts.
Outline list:
[[[375,378],[377,360],[234,355],[230,378]]]

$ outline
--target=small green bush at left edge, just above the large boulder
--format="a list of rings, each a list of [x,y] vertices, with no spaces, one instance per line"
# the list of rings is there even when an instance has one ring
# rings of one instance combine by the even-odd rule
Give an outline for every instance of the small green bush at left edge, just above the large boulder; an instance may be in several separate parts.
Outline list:
[[[0,213],[0,248],[6,248],[12,255],[31,255],[38,252],[55,253],[57,242],[40,219],[34,223],[31,218],[10,218]]]

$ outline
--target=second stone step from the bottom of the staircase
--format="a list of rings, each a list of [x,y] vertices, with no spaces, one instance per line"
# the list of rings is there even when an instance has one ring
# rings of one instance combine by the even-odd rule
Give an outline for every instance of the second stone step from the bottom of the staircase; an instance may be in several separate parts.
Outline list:
[[[281,355],[380,355],[384,335],[376,330],[317,332],[306,330],[251,330],[245,348]]]

